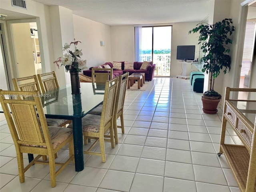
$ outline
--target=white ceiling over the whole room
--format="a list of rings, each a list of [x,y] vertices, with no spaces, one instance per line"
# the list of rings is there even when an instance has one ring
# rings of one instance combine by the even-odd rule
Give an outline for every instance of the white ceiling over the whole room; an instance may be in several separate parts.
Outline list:
[[[199,22],[209,13],[210,0],[33,0],[46,5],[59,5],[73,14],[107,24],[139,25],[175,22]],[[6,12],[6,20],[29,18]],[[31,16],[30,16],[31,18]]]

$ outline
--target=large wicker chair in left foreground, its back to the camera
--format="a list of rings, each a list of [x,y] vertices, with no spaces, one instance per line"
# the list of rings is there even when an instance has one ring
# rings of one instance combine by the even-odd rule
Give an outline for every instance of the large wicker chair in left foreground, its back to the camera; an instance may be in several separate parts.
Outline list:
[[[51,186],[55,187],[56,176],[70,161],[74,162],[73,130],[47,126],[42,102],[40,97],[35,96],[38,94],[38,91],[0,90],[0,103],[14,141],[20,182],[25,182],[24,173],[33,164],[49,164]],[[68,160],[64,163],[56,163],[54,154],[66,144],[69,145]],[[23,153],[38,154],[38,156],[24,168]],[[49,160],[39,160],[41,156],[49,156]],[[55,166],[61,167],[55,171]]]

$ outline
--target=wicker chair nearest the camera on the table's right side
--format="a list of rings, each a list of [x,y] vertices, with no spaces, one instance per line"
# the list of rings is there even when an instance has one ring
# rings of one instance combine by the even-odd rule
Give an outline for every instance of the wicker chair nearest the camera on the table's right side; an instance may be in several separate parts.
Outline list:
[[[110,141],[112,148],[115,147],[113,119],[117,86],[118,77],[106,81],[101,116],[88,114],[82,118],[84,144],[87,144],[87,138],[95,139],[90,148],[84,151],[84,154],[101,156],[103,163],[106,162],[104,140]],[[68,128],[72,128],[72,124]],[[109,135],[107,134],[108,131]],[[100,152],[93,152],[92,148],[97,142],[100,142]]]

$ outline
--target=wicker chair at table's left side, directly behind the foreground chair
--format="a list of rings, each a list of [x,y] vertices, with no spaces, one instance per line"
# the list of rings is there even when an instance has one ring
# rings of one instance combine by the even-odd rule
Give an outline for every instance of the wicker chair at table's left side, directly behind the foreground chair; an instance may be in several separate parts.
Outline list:
[[[39,94],[42,94],[43,92],[45,92],[45,89],[46,89],[45,86],[40,86],[40,81],[38,80],[38,77],[36,75],[22,77],[22,78],[13,78],[12,82],[14,84],[14,89],[16,91],[38,90]],[[64,126],[66,126],[66,124],[70,124],[71,120],[46,118],[46,122],[47,122],[48,126],[64,127]]]

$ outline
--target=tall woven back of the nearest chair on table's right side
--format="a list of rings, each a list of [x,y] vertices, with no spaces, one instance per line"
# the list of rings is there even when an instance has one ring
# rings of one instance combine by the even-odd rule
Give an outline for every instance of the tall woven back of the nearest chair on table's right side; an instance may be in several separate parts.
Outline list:
[[[102,105],[102,114],[100,120],[100,129],[102,131],[106,130],[110,126],[113,126],[114,118],[114,107],[116,100],[116,91],[118,86],[118,77],[106,81],[104,100]]]

